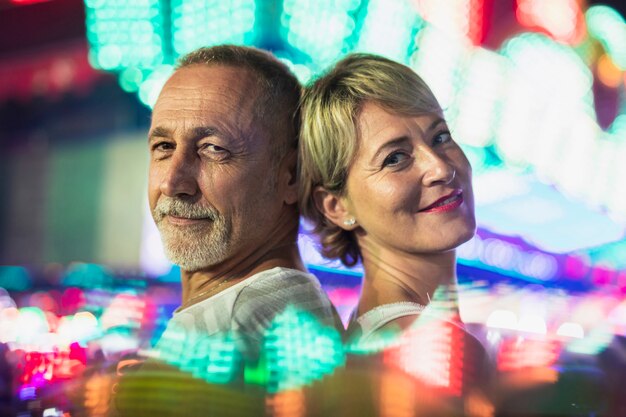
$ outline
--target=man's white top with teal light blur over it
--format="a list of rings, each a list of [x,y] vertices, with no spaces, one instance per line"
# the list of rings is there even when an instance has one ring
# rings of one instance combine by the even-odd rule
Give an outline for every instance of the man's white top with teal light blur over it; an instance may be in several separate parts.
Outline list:
[[[194,360],[211,361],[208,356],[229,362],[233,351],[255,360],[265,330],[289,307],[311,313],[321,324],[335,327],[336,312],[317,278],[276,267],[175,311],[155,346],[155,357],[183,369],[185,363]]]

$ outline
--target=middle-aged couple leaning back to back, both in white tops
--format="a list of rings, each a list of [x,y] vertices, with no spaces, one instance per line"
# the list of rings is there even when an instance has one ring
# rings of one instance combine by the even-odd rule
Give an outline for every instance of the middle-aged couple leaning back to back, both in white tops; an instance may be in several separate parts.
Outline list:
[[[182,280],[162,340],[236,332],[254,358],[288,306],[343,332],[298,252],[299,213],[326,257],[363,264],[352,340],[409,328],[456,286],[471,168],[404,65],[350,55],[302,92],[267,52],[201,48],[163,87],[149,149],[150,208]]]

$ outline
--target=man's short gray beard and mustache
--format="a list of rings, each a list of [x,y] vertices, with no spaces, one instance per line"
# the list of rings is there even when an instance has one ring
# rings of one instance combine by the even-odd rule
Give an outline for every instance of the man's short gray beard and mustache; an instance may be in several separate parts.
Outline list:
[[[189,226],[175,226],[164,221],[168,214],[209,220]],[[232,224],[213,207],[161,197],[152,215],[161,233],[165,256],[181,269],[197,271],[227,258],[231,246]]]

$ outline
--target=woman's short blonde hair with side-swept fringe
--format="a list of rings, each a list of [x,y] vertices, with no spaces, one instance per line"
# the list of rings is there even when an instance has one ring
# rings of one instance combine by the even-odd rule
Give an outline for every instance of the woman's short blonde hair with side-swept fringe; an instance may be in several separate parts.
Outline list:
[[[329,221],[315,205],[322,186],[343,196],[358,148],[358,117],[373,102],[386,111],[417,116],[441,111],[426,83],[409,67],[370,54],[351,54],[308,86],[302,98],[300,210],[320,237],[322,254],[353,266],[361,258],[354,232]]]

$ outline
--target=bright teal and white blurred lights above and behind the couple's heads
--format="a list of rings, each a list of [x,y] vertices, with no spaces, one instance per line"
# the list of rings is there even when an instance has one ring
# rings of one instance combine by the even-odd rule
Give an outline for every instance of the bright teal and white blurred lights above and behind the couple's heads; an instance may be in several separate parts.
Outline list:
[[[583,13],[575,0],[518,0],[520,23],[545,35],[517,34],[489,51],[479,46],[482,0],[331,3],[143,0],[124,8],[86,0],[91,61],[152,106],[176,58],[200,44],[270,47],[303,79],[346,52],[381,53],[425,78],[463,145],[494,146],[496,165],[532,167],[542,181],[626,222],[626,192],[606,192],[621,185],[610,181],[617,162],[603,157],[608,145],[598,140],[604,132],[589,70],[597,61],[599,79],[612,88],[624,80],[626,25],[615,10],[591,6]],[[585,48],[573,48],[583,37],[607,54],[589,58]],[[576,146],[564,148],[564,141]],[[622,140],[611,147],[608,155],[626,152]],[[551,163],[555,157],[563,163]]]

